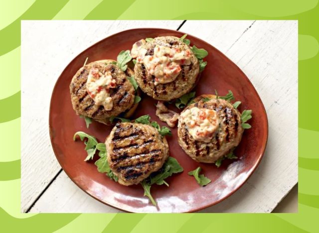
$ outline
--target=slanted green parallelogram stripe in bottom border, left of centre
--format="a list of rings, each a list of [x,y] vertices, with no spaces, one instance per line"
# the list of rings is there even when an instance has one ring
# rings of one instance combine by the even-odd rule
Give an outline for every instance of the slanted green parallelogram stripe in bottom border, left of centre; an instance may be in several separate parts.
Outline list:
[[[117,214],[103,230],[103,233],[129,233],[146,214]]]

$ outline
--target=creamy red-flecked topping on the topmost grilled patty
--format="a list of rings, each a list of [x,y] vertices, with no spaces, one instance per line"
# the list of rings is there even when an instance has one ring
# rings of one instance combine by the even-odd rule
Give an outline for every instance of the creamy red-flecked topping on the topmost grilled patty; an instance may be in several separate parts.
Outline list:
[[[179,48],[156,45],[153,55],[146,55],[147,50],[142,48],[145,42],[140,40],[133,45],[131,55],[143,63],[150,75],[155,76],[155,85],[170,83],[176,79],[181,71],[180,65],[190,64],[191,52]]]

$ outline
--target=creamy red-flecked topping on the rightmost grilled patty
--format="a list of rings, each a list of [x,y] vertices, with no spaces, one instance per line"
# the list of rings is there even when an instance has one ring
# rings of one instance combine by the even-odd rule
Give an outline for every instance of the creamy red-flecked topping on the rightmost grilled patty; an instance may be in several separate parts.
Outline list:
[[[214,110],[191,108],[180,115],[189,134],[196,141],[209,142],[219,126],[219,118]]]

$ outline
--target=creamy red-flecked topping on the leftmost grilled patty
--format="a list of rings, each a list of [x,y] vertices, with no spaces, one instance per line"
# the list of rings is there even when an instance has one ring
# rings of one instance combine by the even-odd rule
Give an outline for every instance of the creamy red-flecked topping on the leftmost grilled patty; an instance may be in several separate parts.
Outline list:
[[[110,97],[110,88],[115,87],[116,81],[112,78],[110,71],[102,73],[98,68],[91,68],[86,89],[96,105],[103,105],[107,111],[112,110],[113,101]]]

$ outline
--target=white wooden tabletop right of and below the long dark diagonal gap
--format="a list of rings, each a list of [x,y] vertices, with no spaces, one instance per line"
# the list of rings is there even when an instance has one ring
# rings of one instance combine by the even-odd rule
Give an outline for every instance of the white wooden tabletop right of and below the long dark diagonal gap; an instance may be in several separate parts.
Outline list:
[[[269,213],[297,183],[297,28],[296,21],[186,21],[181,27],[243,69],[264,102],[270,125],[266,154],[248,182],[225,201],[200,212]],[[117,211],[85,194],[63,173],[60,176],[30,212]],[[71,191],[62,193],[61,187]],[[83,207],[74,208],[82,202]]]

